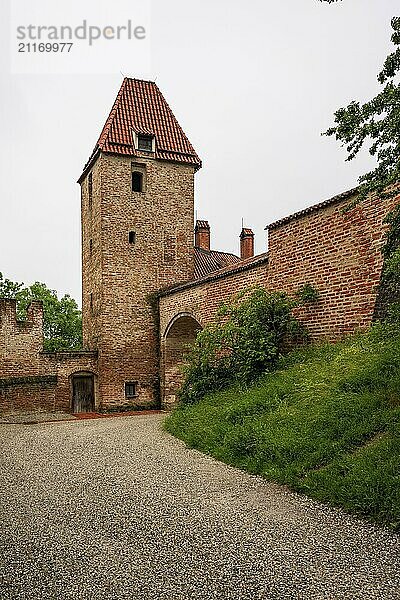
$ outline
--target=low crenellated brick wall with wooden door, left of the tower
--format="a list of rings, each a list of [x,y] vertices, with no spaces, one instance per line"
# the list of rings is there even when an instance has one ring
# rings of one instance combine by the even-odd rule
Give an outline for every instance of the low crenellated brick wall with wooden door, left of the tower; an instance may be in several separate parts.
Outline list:
[[[0,300],[0,413],[70,411],[71,375],[96,377],[97,353],[43,352],[42,304],[30,305],[26,321],[15,308],[15,300]]]

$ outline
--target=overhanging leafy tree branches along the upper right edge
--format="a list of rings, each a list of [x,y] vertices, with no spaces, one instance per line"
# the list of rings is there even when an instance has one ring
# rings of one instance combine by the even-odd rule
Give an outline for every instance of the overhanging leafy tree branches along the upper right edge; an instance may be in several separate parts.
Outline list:
[[[381,91],[363,104],[353,101],[346,108],[337,110],[335,126],[324,134],[334,135],[346,147],[346,160],[353,160],[365,146],[376,159],[375,169],[359,178],[357,201],[369,193],[377,194],[381,198],[391,198],[399,193],[400,17],[393,17],[391,25],[391,40],[396,48],[388,55],[378,74]],[[385,315],[391,302],[400,297],[397,252],[400,248],[400,204],[387,215],[386,222],[389,229],[383,246],[385,266],[379,290],[379,316]]]

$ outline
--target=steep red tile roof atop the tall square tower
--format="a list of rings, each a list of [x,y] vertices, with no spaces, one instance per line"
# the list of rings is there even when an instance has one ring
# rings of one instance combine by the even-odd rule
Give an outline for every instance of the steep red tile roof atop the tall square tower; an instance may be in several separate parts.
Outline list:
[[[136,156],[132,130],[155,137],[155,158],[201,167],[158,86],[153,81],[125,77],[84,173],[100,150]]]

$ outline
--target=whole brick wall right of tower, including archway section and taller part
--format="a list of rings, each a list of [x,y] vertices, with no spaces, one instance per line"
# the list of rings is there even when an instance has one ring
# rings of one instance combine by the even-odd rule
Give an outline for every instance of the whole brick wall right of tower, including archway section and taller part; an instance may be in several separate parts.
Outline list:
[[[399,199],[368,198],[344,210],[352,200],[344,195],[272,226],[268,261],[262,264],[209,276],[163,293],[161,371],[166,403],[171,394],[170,380],[177,380],[181,360],[176,350],[168,349],[169,323],[188,313],[204,326],[213,321],[221,302],[246,287],[257,284],[294,295],[302,285],[313,285],[319,293],[318,302],[297,309],[296,315],[314,340],[337,340],[371,324],[382,270],[383,220]]]

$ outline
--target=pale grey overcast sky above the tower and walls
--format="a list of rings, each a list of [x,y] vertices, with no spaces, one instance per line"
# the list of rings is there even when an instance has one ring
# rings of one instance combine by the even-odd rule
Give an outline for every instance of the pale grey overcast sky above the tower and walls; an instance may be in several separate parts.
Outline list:
[[[0,271],[80,302],[76,180],[122,75],[10,74],[1,6]],[[268,223],[353,187],[371,166],[367,155],[346,163],[320,133],[337,108],[379,89],[398,8],[398,0],[152,1],[150,68],[132,57],[124,74],[156,80],[202,158],[196,209],[214,249],[238,252],[243,218],[263,252]]]

